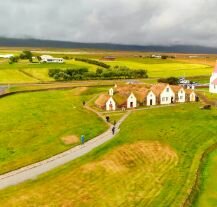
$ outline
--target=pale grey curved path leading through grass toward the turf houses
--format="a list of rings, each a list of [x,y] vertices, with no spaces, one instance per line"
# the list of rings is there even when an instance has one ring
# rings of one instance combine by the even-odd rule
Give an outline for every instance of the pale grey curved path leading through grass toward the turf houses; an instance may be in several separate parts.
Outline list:
[[[87,154],[94,148],[112,139],[119,132],[119,126],[129,116],[130,113],[131,111],[126,112],[126,114],[117,122],[117,130],[114,135],[112,134],[111,130],[112,126],[110,126],[110,128],[106,132],[93,138],[92,140],[86,142],[83,145],[76,146],[47,160],[43,160],[41,162],[28,165],[18,170],[1,175],[0,189],[19,184],[29,179],[35,179],[40,174],[48,172],[58,166],[61,166],[69,161],[75,160],[76,158]]]

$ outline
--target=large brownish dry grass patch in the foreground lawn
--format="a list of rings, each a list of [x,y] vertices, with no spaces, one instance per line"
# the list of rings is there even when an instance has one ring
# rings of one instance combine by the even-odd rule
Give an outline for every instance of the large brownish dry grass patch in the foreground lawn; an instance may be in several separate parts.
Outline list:
[[[5,206],[151,206],[177,162],[177,154],[159,142],[125,144],[1,202]]]

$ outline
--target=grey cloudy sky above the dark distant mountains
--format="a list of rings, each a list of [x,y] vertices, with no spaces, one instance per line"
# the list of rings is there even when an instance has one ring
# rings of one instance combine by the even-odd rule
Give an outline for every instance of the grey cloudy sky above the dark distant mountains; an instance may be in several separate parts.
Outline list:
[[[1,0],[0,36],[217,46],[217,0]]]

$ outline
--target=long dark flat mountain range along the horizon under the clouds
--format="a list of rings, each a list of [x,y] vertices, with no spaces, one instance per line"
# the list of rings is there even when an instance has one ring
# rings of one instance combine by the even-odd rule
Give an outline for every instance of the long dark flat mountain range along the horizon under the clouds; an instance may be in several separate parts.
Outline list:
[[[217,54],[217,48],[197,45],[124,45],[110,43],[80,43],[38,39],[14,39],[0,38],[0,47],[36,47],[36,48],[68,48],[68,49],[104,49],[122,51],[143,52],[172,52],[172,53],[196,53]]]

